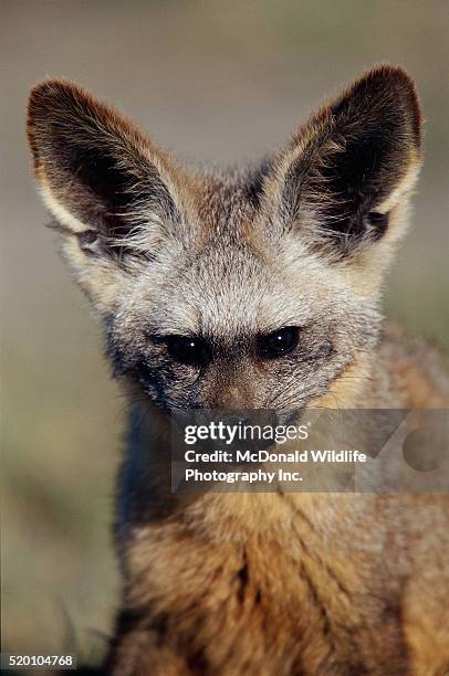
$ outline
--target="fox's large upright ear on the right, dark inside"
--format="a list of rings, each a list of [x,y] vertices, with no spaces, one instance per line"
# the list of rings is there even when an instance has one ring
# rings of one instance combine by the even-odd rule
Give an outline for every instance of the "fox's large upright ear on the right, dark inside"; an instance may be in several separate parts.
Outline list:
[[[267,179],[265,208],[284,232],[338,260],[397,239],[420,140],[413,81],[377,66],[302,126]]]

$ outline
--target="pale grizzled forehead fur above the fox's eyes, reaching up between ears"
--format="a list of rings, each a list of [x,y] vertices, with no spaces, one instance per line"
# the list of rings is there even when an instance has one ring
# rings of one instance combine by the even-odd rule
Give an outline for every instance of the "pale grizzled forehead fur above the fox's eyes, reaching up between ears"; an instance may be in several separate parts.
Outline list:
[[[337,277],[301,242],[254,226],[255,190],[251,172],[205,180],[196,236],[134,262],[132,297],[115,311],[125,332],[145,325],[155,334],[232,340],[327,311]]]

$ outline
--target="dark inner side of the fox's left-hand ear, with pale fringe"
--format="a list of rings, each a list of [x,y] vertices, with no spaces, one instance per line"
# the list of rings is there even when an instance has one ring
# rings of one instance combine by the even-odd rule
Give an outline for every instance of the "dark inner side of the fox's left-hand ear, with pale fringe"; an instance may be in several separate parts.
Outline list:
[[[96,228],[104,243],[119,249],[145,220],[180,221],[187,177],[129,120],[77,85],[38,85],[28,135],[44,199],[65,225]]]

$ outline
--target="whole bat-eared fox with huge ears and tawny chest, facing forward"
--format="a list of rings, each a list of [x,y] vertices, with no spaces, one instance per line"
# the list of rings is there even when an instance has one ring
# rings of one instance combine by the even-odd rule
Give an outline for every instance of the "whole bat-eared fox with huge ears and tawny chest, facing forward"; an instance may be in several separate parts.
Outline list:
[[[421,125],[380,65],[258,166],[194,171],[72,82],[33,88],[39,189],[134,402],[108,674],[449,674],[448,496],[170,486],[174,412],[448,405],[380,309]]]

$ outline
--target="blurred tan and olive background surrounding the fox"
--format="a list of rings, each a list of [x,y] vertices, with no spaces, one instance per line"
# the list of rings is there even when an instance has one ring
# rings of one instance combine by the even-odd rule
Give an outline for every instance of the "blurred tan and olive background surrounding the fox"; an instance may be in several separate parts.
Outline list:
[[[97,656],[117,604],[113,480],[125,402],[98,327],[52,245],[24,135],[30,87],[80,82],[181,158],[282,144],[378,61],[417,81],[426,166],[388,313],[449,346],[449,4],[0,0],[3,649]]]

